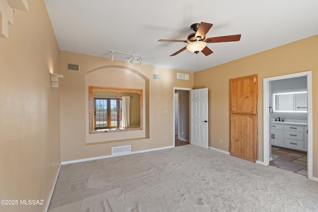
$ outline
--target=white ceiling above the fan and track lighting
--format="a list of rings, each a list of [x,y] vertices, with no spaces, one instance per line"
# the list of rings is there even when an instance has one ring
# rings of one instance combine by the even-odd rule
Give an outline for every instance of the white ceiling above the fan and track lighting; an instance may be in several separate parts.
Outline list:
[[[144,64],[196,72],[318,34],[318,0],[45,0],[61,50],[111,57],[108,50],[144,57]],[[193,23],[213,26],[209,56],[185,50]],[[115,60],[131,56],[115,54]]]

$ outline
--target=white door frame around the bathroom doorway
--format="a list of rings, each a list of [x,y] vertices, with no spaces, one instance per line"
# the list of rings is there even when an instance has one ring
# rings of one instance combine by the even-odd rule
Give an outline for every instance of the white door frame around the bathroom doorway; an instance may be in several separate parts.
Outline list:
[[[268,78],[263,78],[263,162],[259,161],[257,163],[268,166],[269,165],[269,81],[278,79],[295,78],[300,76],[307,76],[307,102],[308,102],[308,112],[307,112],[307,127],[308,127],[308,145],[307,145],[307,176],[310,180],[318,181],[318,178],[313,177],[313,90],[312,90],[312,71],[304,71],[298,73],[291,73],[280,76],[273,76]]]

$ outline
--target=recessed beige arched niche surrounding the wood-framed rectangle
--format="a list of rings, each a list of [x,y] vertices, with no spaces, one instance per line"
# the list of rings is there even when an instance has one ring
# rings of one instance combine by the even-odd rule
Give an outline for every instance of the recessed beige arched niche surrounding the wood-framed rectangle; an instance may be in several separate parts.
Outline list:
[[[112,133],[89,134],[89,86],[143,89],[143,129]],[[133,141],[149,138],[149,78],[125,66],[102,66],[85,73],[86,144]]]

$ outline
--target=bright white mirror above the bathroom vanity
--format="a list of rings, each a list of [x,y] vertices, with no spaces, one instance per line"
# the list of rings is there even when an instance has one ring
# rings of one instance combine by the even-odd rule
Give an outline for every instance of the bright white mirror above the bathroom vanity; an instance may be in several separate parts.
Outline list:
[[[274,93],[273,106],[276,113],[307,113],[307,91]]]

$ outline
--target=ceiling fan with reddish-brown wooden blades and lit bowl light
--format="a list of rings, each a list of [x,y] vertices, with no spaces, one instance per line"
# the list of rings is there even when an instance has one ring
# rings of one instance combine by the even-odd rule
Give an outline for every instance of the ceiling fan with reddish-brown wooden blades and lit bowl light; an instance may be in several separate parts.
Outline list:
[[[175,56],[180,52],[184,51],[185,49],[189,50],[192,53],[198,54],[202,52],[205,56],[212,54],[212,50],[207,47],[207,43],[219,43],[219,42],[230,42],[230,41],[239,41],[240,35],[228,35],[228,36],[221,36],[221,37],[212,37],[212,38],[205,38],[207,32],[213,26],[212,23],[194,23],[191,25],[191,29],[195,31],[188,35],[187,40],[163,40],[160,39],[160,42],[184,42],[189,43],[187,46],[183,47],[179,51],[173,53],[170,56]]]

